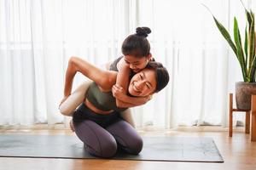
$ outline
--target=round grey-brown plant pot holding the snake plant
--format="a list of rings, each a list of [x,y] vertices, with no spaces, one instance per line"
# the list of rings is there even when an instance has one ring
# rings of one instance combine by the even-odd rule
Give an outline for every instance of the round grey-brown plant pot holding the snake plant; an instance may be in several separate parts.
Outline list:
[[[250,110],[252,94],[256,94],[256,82],[236,82],[236,108]]]

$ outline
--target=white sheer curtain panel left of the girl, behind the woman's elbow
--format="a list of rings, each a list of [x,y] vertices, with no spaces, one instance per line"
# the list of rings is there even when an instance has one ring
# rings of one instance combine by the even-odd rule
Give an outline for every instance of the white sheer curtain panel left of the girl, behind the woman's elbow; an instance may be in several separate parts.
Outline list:
[[[127,35],[126,1],[0,0],[0,125],[62,122],[68,58],[102,65]],[[74,88],[84,77],[75,79]]]

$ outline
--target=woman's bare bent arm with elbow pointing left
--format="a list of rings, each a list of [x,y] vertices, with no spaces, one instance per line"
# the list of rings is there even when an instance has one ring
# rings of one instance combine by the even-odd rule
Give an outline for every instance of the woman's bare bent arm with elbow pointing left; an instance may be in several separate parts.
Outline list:
[[[83,59],[71,57],[68,61],[66,71],[64,97],[71,94],[73,77],[77,72],[82,73],[85,77],[96,82],[102,91],[110,91],[117,76],[114,71],[103,71]]]

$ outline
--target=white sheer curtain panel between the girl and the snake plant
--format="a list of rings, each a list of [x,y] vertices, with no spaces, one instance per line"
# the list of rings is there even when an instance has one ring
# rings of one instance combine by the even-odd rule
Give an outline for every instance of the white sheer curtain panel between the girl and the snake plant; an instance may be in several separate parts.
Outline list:
[[[153,105],[143,106],[142,120],[149,124],[174,127],[225,121],[227,47],[201,3],[227,22],[228,1],[144,0],[138,5],[140,24],[154,30],[149,37],[153,54],[171,73],[168,88],[155,95]]]

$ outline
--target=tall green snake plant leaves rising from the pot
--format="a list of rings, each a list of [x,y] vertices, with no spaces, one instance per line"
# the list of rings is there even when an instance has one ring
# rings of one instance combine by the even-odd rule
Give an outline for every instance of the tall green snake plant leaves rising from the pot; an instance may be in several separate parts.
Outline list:
[[[252,10],[245,8],[245,14],[247,17],[247,25],[244,31],[244,41],[241,42],[241,33],[238,27],[236,17],[234,17],[234,40],[230,37],[229,31],[215,18],[212,14],[218,30],[221,32],[225,40],[230,44],[230,48],[236,54],[236,58],[241,66],[241,73],[244,82],[255,82],[256,77],[256,32],[255,32],[255,20]]]

